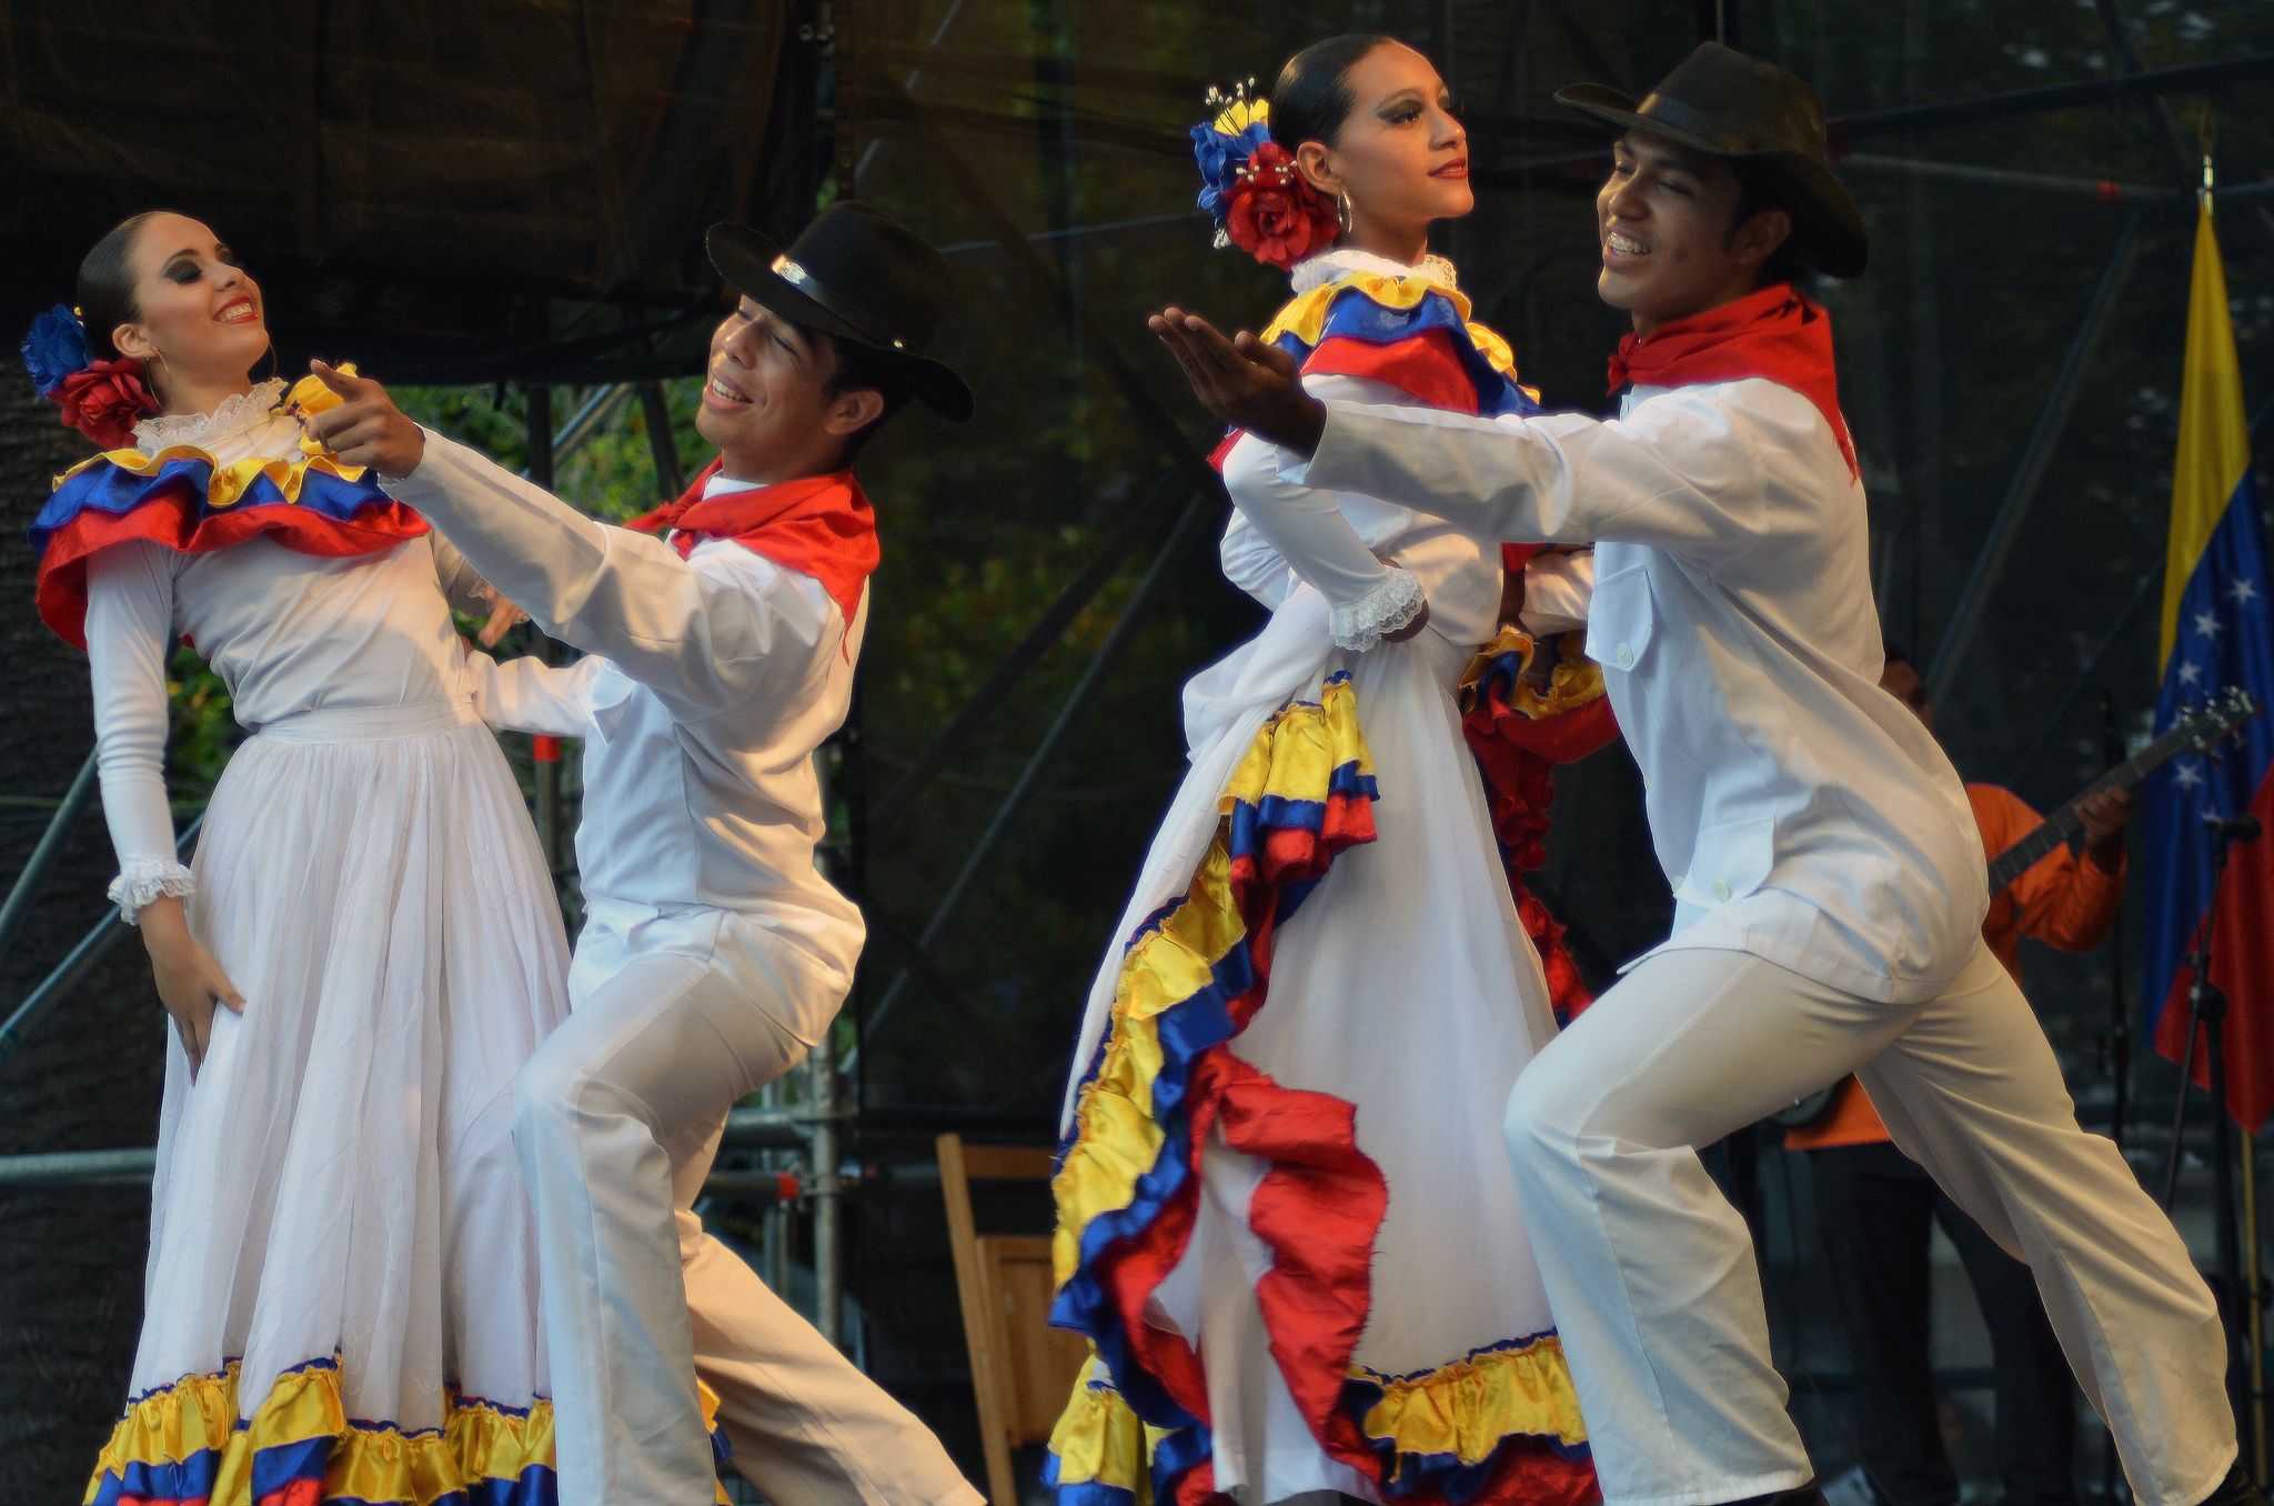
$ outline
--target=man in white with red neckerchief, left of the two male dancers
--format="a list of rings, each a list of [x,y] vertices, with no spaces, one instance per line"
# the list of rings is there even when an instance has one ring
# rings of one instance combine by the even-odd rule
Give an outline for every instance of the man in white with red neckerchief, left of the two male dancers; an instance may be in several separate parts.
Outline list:
[[[775,1506],[978,1501],[939,1440],[691,1210],[728,1108],[825,1037],[853,978],[860,910],[814,869],[814,748],[844,721],[875,564],[850,462],[910,396],[971,414],[923,355],[948,271],[855,202],[789,253],[739,225],[714,227],[709,253],[741,293],[696,419],[721,457],[650,514],[669,541],[591,521],[327,366],[346,403],[309,428],[589,655],[496,664],[487,692],[491,721],[584,737],[573,1012],[514,1103],[562,1501],[712,1501],[698,1370],[735,1465]]]

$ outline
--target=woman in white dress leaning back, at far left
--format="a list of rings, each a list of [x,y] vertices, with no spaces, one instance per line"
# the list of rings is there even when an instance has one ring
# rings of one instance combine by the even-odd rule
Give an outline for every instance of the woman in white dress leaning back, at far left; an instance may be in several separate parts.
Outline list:
[[[450,621],[491,598],[302,446],[314,382],[248,380],[259,289],[211,230],[123,223],[80,305],[25,341],[107,448],[32,528],[39,605],[89,651],[111,899],[175,1026],[132,1399],[86,1499],[548,1501],[509,1110],[566,940]],[[250,733],[191,867],[161,773],[182,637]]]

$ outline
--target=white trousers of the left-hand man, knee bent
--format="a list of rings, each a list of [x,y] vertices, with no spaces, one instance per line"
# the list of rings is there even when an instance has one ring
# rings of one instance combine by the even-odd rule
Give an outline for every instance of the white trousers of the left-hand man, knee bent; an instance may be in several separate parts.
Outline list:
[[[564,1506],[714,1499],[696,1372],[721,1397],[735,1467],[775,1506],[982,1499],[694,1213],[728,1108],[807,1051],[778,1012],[814,967],[750,917],[591,908],[573,1012],[514,1094]]]

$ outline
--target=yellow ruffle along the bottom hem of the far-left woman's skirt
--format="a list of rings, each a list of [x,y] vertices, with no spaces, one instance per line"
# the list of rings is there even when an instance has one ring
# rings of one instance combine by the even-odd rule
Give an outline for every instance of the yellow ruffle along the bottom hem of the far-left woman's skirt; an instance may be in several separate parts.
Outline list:
[[[218,1456],[211,1506],[248,1506],[252,1458],[316,1438],[334,1440],[325,1499],[430,1506],[478,1481],[514,1481],[532,1465],[555,1467],[550,1401],[516,1413],[453,1399],[441,1431],[405,1433],[350,1424],[339,1399],[339,1367],[318,1363],[277,1376],[259,1410],[239,1429],[236,1379],[232,1360],[218,1376],[189,1376],[139,1399],[111,1429],[84,1499],[93,1501],[105,1476],[132,1465],[180,1465],[211,1451]]]

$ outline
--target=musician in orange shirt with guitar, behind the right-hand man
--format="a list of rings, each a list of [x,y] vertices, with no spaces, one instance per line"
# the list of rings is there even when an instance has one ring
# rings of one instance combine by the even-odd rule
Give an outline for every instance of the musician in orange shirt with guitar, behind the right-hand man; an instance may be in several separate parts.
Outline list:
[[[1919,671],[1890,644],[1881,687],[1919,714],[1935,710]],[[1997,855],[2040,817],[1997,785],[1967,785],[1983,853]],[[2053,849],[1992,896],[1983,940],[2022,978],[2022,937],[2060,951],[2092,951],[2124,899],[2124,826],[2131,796],[2099,792],[2076,808],[2083,851]],[[1856,1078],[1826,1112],[1785,1135],[1810,1151],[1817,1224],[1856,1360],[1856,1445],[1881,1506],[1953,1506],[1958,1476],[1942,1447],[1928,1358],[1928,1219],[1940,1222],[1965,1263],[1990,1329],[1997,1374],[1997,1467],[2006,1506],[2074,1506],[2069,1456],[2076,1395],[2060,1342],[2028,1267],[1999,1249],[1926,1169],[1903,1156]]]

